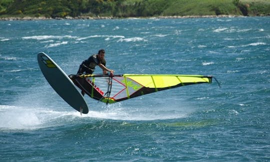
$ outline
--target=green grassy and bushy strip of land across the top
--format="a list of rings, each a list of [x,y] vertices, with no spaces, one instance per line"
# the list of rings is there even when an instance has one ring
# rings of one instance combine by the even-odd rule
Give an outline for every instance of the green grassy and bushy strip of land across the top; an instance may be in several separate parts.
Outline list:
[[[269,16],[270,0],[0,0],[0,19]]]

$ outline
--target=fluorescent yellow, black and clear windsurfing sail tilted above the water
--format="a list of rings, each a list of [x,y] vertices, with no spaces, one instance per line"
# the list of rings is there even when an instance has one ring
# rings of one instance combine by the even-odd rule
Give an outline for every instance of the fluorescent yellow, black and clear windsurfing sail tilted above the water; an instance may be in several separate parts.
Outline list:
[[[211,83],[213,76],[177,74],[82,74],[70,79],[91,98],[114,103],[178,86]]]

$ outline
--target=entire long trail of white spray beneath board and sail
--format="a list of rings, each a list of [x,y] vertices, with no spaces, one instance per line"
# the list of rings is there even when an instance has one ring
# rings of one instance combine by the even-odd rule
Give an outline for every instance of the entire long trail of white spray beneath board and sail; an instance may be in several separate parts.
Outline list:
[[[115,119],[115,120],[156,120],[186,117],[192,108],[170,106],[164,109],[161,107],[126,107],[120,103],[108,106],[96,107],[98,110],[89,110],[87,114],[82,114],[70,106],[59,108],[47,105],[0,105],[0,130],[6,129],[38,129],[50,126],[61,126],[69,124],[71,121],[81,122],[77,118],[85,119]],[[159,105],[158,105],[159,106]],[[182,106],[182,105],[181,105]],[[46,108],[44,108],[46,107]],[[66,109],[66,111],[57,111]],[[154,110],[153,110],[154,109]],[[190,110],[191,109],[191,110]]]

